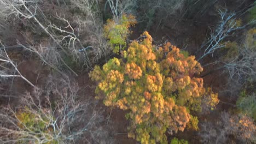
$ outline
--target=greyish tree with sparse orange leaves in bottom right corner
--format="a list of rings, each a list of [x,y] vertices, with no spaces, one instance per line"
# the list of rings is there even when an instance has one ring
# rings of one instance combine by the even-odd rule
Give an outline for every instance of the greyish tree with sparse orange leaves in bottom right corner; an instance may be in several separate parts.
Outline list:
[[[255,141],[256,126],[252,118],[246,115],[231,115],[222,112],[216,123],[203,122],[200,136],[204,143],[225,143],[229,135],[243,142]]]

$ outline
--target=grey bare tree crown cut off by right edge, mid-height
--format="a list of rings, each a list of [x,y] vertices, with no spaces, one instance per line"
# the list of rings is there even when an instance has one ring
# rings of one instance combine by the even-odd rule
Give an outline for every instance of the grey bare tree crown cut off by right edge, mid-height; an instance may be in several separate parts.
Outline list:
[[[246,33],[245,42],[238,45],[235,42],[230,42],[226,46],[228,49],[227,55],[223,58],[224,68],[228,71],[231,79],[255,81],[256,76],[256,29],[250,29]]]

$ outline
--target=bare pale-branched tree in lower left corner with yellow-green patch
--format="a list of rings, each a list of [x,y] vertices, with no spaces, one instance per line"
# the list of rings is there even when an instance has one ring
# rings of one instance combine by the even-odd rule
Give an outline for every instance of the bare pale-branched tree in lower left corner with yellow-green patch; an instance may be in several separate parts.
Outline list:
[[[80,101],[78,91],[77,84],[66,77],[22,95],[14,108],[2,107],[0,143],[75,143],[80,136],[98,141],[95,127],[102,121],[101,113],[94,101]]]

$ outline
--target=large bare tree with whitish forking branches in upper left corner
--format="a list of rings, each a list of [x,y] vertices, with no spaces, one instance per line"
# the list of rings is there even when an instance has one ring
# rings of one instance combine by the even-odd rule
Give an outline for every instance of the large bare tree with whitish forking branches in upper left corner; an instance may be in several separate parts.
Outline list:
[[[0,17],[6,19],[3,23],[7,25],[12,25],[9,21],[18,21],[28,27],[18,31],[26,39],[26,43],[21,41],[21,44],[44,63],[59,68],[64,65],[78,76],[71,62],[92,69],[93,63],[110,52],[103,37],[100,4],[98,0],[57,2],[0,0]]]

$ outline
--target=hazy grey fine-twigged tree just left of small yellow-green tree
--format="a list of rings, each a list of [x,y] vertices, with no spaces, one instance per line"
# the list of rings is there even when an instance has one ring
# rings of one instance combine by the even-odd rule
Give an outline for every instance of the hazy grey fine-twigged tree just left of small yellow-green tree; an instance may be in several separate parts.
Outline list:
[[[74,22],[78,24],[80,43],[86,47],[80,48],[80,53],[88,53],[92,63],[96,63],[100,58],[106,58],[111,49],[107,40],[103,37],[103,20],[100,9],[100,0],[72,0],[71,9],[80,9],[82,15],[75,15]],[[91,52],[87,52],[90,50]],[[85,54],[86,54],[85,53]]]

